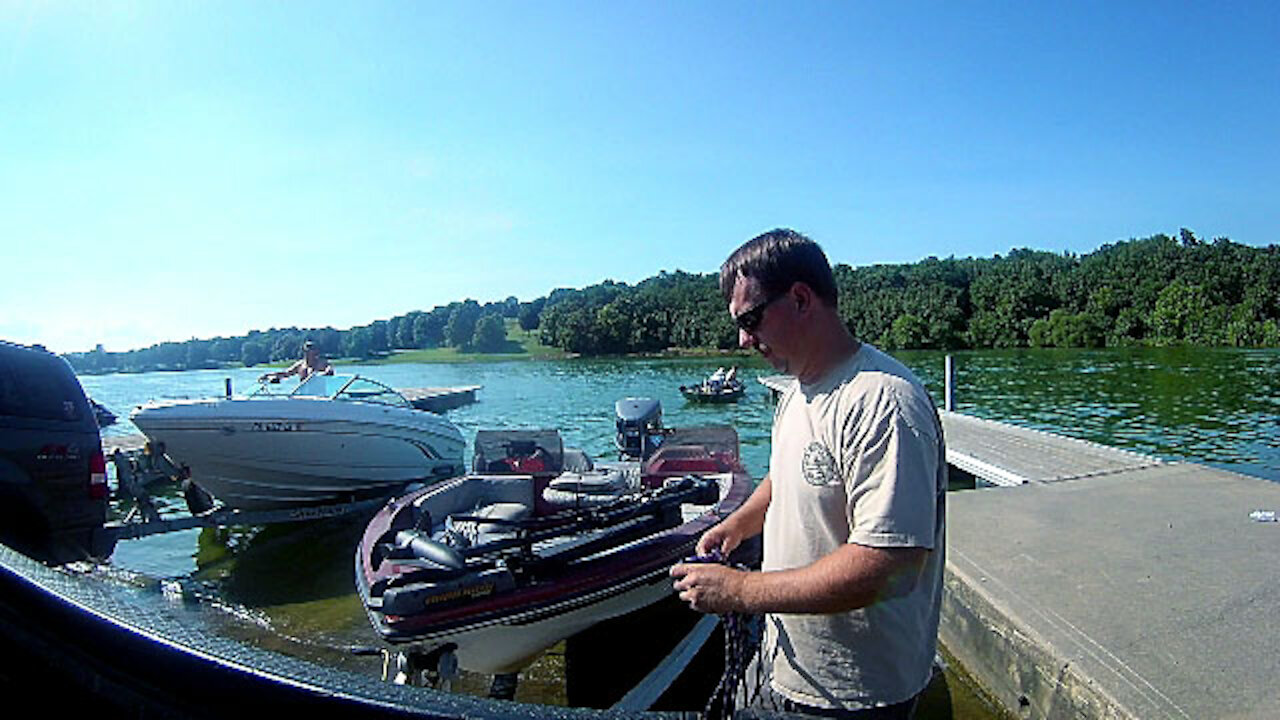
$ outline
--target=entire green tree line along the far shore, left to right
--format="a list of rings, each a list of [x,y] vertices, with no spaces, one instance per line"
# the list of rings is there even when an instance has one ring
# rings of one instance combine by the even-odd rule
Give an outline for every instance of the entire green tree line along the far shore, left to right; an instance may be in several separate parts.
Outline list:
[[[1105,245],[1087,255],[1014,250],[986,259],[837,264],[840,314],[890,350],[989,347],[1280,346],[1280,246],[1206,242],[1188,229]],[[495,352],[506,320],[564,352],[618,355],[728,350],[737,332],[716,273],[662,272],[634,286],[605,281],[529,302],[475,300],[347,331],[252,331],[129,352],[68,355],[77,372],[257,365],[296,359],[305,340],[330,356],[399,348]]]

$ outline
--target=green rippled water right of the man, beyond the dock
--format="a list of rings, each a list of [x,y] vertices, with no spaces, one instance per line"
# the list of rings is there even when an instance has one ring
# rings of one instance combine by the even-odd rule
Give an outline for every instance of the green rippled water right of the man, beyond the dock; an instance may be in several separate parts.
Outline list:
[[[900,354],[942,397],[940,354]],[[955,355],[956,410],[1280,482],[1280,350]]]

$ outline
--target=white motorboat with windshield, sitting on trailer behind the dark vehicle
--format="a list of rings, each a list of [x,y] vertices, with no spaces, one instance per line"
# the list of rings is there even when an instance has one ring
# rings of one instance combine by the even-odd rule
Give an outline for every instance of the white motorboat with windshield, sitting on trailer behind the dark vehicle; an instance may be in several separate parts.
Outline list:
[[[453,423],[358,375],[312,375],[292,391],[264,383],[247,397],[152,401],[131,419],[233,509],[387,496],[466,470]]]

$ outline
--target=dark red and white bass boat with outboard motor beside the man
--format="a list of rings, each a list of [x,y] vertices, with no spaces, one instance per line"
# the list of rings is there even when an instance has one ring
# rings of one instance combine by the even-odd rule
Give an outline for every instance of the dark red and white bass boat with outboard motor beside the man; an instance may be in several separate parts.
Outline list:
[[[668,569],[751,493],[732,428],[663,429],[653,400],[617,411],[620,461],[566,450],[557,430],[480,430],[471,474],[394,498],[370,521],[356,584],[378,634],[402,648],[398,682],[442,653],[516,673],[669,596]]]

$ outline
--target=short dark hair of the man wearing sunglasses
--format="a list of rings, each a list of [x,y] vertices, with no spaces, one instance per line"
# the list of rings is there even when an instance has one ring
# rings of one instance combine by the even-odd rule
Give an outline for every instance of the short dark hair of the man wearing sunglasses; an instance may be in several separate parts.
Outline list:
[[[753,237],[733,251],[721,265],[721,295],[724,302],[733,297],[737,275],[755,278],[769,297],[781,295],[796,282],[803,282],[827,305],[838,301],[836,277],[827,255],[818,243],[794,229],[778,228]]]

